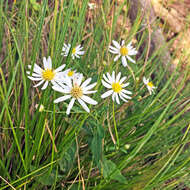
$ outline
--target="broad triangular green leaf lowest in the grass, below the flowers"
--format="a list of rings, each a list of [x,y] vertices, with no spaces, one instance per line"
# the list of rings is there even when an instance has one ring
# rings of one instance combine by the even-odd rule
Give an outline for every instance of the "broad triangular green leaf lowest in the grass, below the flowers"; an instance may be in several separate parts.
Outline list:
[[[127,183],[126,178],[121,174],[120,170],[111,160],[107,160],[106,158],[104,158],[102,162],[102,167],[104,178],[117,180],[120,183],[124,184]]]

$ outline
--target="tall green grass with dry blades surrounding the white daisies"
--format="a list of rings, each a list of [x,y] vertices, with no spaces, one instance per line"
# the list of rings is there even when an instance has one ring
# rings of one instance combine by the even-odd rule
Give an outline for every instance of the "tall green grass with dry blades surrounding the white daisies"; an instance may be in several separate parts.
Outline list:
[[[127,18],[127,1],[105,0],[93,10],[88,3],[0,2],[0,189],[190,187],[188,69],[181,80],[178,69],[168,72],[159,59],[162,48],[146,60],[148,43],[140,47],[149,31],[136,36],[144,27],[140,13],[130,31],[118,24],[120,16]],[[108,46],[135,36],[137,63],[124,68]],[[82,43],[85,55],[61,56],[64,43]],[[67,103],[54,104],[59,94],[50,86],[33,88],[27,66],[42,66],[48,56],[54,68],[66,64],[97,81],[98,105],[90,113],[77,105],[67,116]],[[102,75],[113,70],[130,82],[128,103],[100,98]],[[142,76],[157,86],[153,95]]]

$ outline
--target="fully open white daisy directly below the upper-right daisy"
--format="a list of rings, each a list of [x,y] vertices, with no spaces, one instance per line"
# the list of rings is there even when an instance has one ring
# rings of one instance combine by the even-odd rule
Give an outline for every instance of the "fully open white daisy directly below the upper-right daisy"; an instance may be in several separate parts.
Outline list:
[[[126,94],[132,94],[131,91],[125,90],[124,88],[129,85],[129,83],[123,83],[126,79],[126,77],[121,77],[121,73],[119,72],[118,75],[115,77],[115,72],[112,72],[112,76],[109,73],[103,74],[104,80],[102,80],[102,84],[110,89],[104,94],[102,94],[101,98],[106,98],[110,95],[112,95],[112,100],[117,102],[117,104],[120,104],[119,97],[124,101],[127,102],[126,99],[131,99],[130,96]]]

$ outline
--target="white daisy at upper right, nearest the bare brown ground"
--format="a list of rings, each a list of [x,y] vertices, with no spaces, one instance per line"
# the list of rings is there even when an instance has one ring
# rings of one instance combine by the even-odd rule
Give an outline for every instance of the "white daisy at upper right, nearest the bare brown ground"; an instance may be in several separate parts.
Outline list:
[[[118,54],[115,58],[114,61],[117,61],[121,57],[121,62],[124,67],[127,66],[127,59],[131,61],[132,63],[135,63],[135,60],[133,60],[130,56],[136,55],[137,51],[135,48],[132,47],[132,42],[130,42],[127,46],[125,46],[125,41],[122,40],[121,45],[116,42],[115,40],[112,40],[113,46],[109,46],[109,51],[113,54]]]

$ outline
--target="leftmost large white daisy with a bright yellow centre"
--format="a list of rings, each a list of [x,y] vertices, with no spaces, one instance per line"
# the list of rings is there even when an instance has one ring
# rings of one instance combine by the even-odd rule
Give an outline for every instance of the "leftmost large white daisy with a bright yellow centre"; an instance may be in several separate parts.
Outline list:
[[[34,64],[34,69],[32,76],[28,76],[28,78],[32,81],[40,81],[38,84],[36,84],[34,87],[40,86],[44,83],[42,86],[42,90],[46,89],[48,86],[48,83],[51,81],[53,85],[60,82],[60,74],[62,73],[62,69],[64,69],[65,64],[61,65],[57,69],[52,69],[52,61],[51,57],[49,56],[48,59],[45,57],[43,58],[43,65],[44,69],[41,69],[37,64]],[[31,69],[32,66],[28,65],[28,68]],[[30,75],[30,71],[26,72],[28,75]]]

